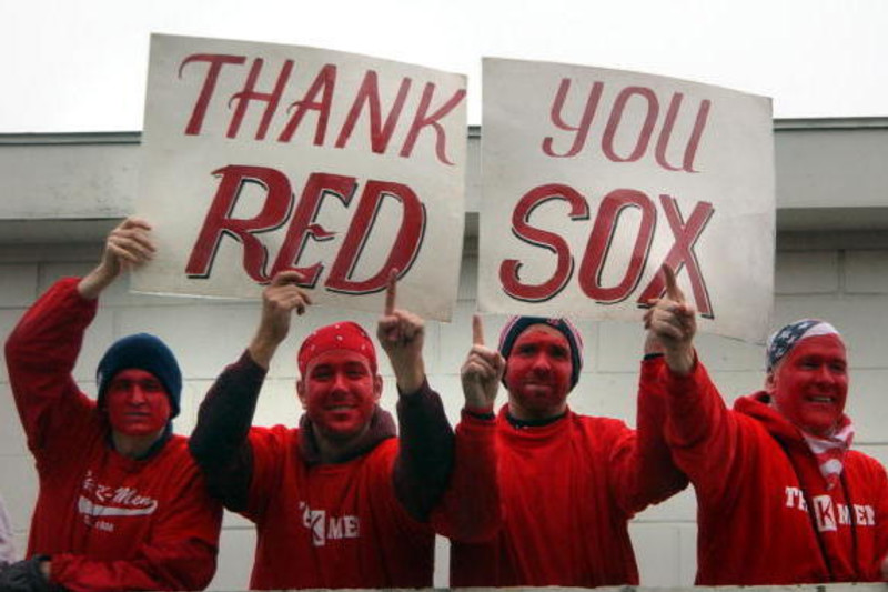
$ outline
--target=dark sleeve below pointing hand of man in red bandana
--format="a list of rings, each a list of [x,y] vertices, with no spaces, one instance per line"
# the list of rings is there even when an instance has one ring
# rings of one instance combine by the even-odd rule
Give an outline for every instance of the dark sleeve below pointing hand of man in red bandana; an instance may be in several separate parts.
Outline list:
[[[428,381],[397,400],[400,448],[392,479],[398,502],[420,522],[437,504],[453,468],[453,429]]]

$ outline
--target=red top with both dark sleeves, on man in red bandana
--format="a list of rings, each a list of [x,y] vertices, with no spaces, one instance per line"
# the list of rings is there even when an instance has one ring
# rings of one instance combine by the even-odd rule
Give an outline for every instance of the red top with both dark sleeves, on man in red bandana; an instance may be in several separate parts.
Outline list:
[[[400,397],[401,442],[377,408],[352,456],[322,463],[306,417],[296,429],[250,427],[264,377],[246,352],[229,365],[191,439],[211,491],[256,524],[250,586],[431,586],[427,520],[454,445],[437,394],[425,383]]]

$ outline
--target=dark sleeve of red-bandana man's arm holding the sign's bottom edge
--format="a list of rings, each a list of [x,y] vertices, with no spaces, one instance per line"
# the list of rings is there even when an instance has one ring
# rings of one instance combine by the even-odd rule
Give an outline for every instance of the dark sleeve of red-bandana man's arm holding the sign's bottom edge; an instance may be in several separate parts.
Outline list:
[[[265,373],[248,351],[225,368],[201,403],[189,441],[210,494],[234,512],[248,506],[253,476],[248,435]]]

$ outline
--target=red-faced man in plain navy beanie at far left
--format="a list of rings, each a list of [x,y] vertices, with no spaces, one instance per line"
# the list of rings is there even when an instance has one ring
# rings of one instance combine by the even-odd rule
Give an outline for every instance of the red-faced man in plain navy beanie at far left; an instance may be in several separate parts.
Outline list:
[[[215,572],[222,509],[172,433],[182,388],[172,352],[145,333],[121,339],[99,362],[98,401],[72,377],[99,294],[151,259],[149,232],[121,223],[99,265],[52,285],[7,341],[40,492],[30,559],[0,573],[0,590],[201,590]]]

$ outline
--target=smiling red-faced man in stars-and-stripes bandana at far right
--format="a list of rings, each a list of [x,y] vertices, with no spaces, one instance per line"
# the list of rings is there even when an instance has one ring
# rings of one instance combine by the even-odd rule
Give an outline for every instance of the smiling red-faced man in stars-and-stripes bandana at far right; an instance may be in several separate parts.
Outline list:
[[[765,389],[729,410],[666,271],[646,322],[666,350],[667,440],[697,493],[697,583],[888,580],[888,478],[850,450],[841,335],[815,319],[784,327],[768,341]]]

